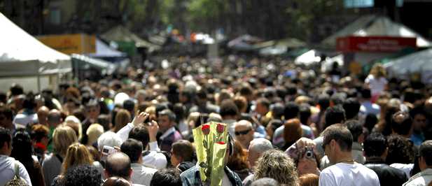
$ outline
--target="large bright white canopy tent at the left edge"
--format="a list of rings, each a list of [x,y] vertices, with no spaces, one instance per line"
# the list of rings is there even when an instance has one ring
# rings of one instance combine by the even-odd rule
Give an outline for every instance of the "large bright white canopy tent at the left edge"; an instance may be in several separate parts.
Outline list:
[[[72,71],[68,55],[43,45],[1,13],[0,28],[1,87],[20,83],[26,91],[55,88],[59,81],[58,75]],[[46,80],[42,80],[44,83],[41,85],[41,78],[48,78],[48,85]]]

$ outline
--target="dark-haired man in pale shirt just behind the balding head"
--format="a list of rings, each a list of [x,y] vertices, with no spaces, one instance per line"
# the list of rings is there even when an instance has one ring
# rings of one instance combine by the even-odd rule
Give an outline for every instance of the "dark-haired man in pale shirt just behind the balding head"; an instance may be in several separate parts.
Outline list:
[[[130,161],[132,163],[132,183],[150,185],[153,174],[158,170],[147,167],[143,164],[142,143],[135,139],[127,139],[120,146],[120,150],[130,158]]]

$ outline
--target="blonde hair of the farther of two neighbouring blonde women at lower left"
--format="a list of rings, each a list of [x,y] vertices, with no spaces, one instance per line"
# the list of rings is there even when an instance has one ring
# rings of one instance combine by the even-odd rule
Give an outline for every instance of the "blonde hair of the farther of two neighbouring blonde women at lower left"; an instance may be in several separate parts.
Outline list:
[[[61,156],[65,156],[69,145],[71,145],[72,143],[76,143],[77,141],[78,138],[76,138],[74,129],[69,126],[59,125],[59,127],[54,130],[54,152]]]

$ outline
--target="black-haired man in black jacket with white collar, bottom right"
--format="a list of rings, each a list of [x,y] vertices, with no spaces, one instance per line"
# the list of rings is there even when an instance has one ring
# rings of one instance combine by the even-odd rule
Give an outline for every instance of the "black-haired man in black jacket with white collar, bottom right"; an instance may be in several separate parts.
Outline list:
[[[387,142],[381,133],[370,134],[363,143],[365,166],[377,173],[380,185],[402,185],[408,178],[403,171],[385,164]]]

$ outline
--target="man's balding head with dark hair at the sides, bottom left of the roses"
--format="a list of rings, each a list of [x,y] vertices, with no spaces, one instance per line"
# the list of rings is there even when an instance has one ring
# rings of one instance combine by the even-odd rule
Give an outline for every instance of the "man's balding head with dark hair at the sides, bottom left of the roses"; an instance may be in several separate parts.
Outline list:
[[[132,168],[130,158],[123,152],[115,152],[106,158],[106,164],[104,169],[105,178],[118,176],[125,178],[127,181],[132,183]],[[138,186],[139,184],[133,184]]]

